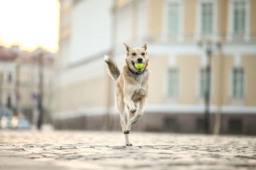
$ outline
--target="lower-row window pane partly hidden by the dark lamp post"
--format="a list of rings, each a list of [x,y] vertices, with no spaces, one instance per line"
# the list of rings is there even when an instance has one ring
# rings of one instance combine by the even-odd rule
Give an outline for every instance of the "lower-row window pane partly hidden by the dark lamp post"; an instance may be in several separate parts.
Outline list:
[[[203,97],[205,96],[205,92],[207,90],[207,87],[209,87],[209,82],[210,82],[210,74],[207,72],[206,68],[200,69],[200,90],[199,90],[199,96]]]

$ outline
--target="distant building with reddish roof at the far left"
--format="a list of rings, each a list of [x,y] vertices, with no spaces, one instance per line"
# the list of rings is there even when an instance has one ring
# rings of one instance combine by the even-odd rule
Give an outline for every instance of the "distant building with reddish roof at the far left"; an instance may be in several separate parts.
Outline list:
[[[36,49],[26,52],[19,46],[0,46],[0,102],[1,108],[8,108],[14,115],[22,113],[30,122],[35,122],[38,98],[38,55],[44,57],[44,108],[45,120],[51,120],[53,64],[52,53]]]

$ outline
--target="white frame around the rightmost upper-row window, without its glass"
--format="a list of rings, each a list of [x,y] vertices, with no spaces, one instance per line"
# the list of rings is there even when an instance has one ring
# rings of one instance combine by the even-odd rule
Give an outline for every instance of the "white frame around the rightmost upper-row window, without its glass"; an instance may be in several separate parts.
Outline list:
[[[228,1],[228,32],[226,39],[234,39],[234,3],[245,3],[245,29],[243,38],[245,41],[250,40],[250,0],[229,0]]]

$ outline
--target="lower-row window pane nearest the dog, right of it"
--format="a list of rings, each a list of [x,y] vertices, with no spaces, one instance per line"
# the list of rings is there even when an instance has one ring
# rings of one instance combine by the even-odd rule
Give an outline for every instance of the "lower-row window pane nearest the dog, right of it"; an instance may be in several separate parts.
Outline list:
[[[179,71],[177,69],[168,70],[168,96],[177,97],[179,92]]]

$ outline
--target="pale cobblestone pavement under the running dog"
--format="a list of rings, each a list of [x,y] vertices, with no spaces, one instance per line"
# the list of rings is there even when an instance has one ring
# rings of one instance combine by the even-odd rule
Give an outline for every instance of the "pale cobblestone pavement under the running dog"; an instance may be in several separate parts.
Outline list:
[[[256,169],[255,136],[0,131],[0,169]]]

